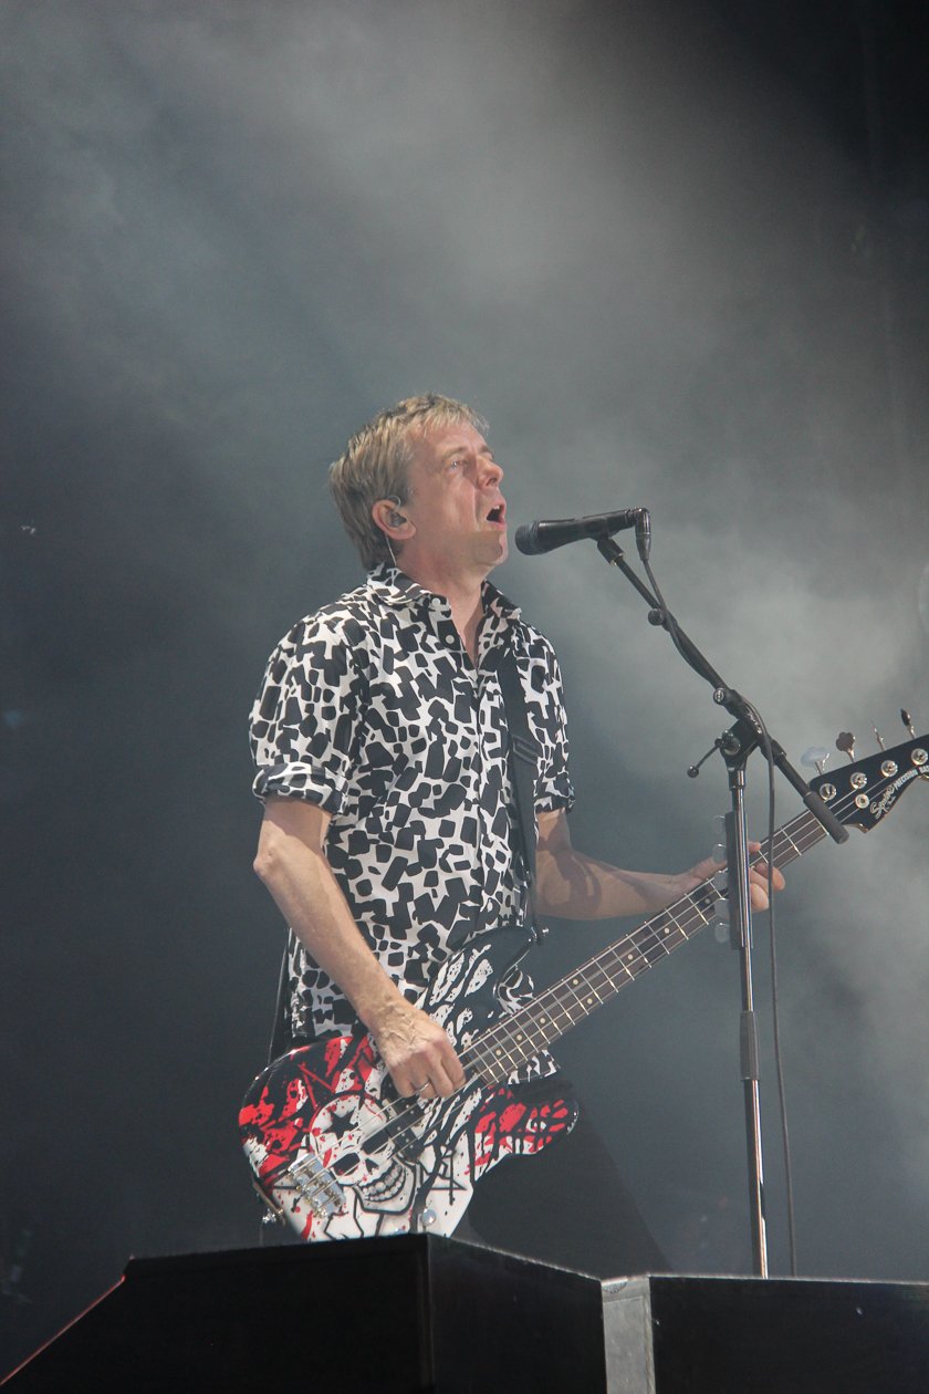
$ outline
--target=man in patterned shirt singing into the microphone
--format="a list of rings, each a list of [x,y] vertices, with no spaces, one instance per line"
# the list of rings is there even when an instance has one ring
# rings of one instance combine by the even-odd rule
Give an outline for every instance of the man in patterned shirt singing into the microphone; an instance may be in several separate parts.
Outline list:
[[[648,916],[719,870],[708,859],[670,875],[624,871],[571,845],[557,661],[487,581],[507,556],[501,484],[485,422],[460,401],[411,397],[362,427],[331,489],[368,577],[281,640],[252,712],[265,804],[255,870],[290,926],[291,1041],[362,1023],[397,1093],[421,1101],[465,1082],[451,1039],[416,1005],[423,990],[462,945],[528,914],[507,652],[536,750],[538,912]],[[758,907],[766,885],[755,867]],[[529,991],[514,972],[503,1009]],[[514,1068],[515,1096],[556,1072],[546,1052]],[[584,1115],[489,1171],[455,1232],[600,1276],[666,1267]]]

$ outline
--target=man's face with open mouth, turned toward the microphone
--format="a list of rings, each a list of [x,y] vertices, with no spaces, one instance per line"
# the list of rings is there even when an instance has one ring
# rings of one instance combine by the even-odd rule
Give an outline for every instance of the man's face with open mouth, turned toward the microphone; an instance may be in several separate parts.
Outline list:
[[[436,567],[472,577],[507,558],[503,470],[469,422],[436,427],[414,438],[401,512],[415,527],[401,566]]]

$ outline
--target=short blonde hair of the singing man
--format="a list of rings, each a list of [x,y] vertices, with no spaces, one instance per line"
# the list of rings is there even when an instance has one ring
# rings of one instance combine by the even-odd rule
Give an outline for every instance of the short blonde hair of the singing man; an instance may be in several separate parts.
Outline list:
[[[412,459],[415,435],[430,427],[457,425],[467,421],[486,432],[487,424],[478,413],[428,392],[407,397],[396,407],[379,411],[348,442],[344,454],[329,470],[329,485],[348,537],[368,570],[391,560],[387,535],[377,527],[370,510],[379,499],[396,499],[401,507],[409,496],[407,470]]]

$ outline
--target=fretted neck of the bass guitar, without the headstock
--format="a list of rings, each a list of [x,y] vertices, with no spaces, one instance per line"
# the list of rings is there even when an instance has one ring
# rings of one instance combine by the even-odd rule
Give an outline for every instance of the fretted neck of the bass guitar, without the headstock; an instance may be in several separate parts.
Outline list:
[[[774,866],[788,866],[825,835],[812,813],[798,814],[774,834]],[[759,860],[762,857],[755,856],[752,863]],[[609,1002],[621,988],[689,942],[713,921],[719,899],[713,882],[703,881],[483,1032],[462,1052],[465,1066],[487,1083],[503,1082],[514,1069]]]

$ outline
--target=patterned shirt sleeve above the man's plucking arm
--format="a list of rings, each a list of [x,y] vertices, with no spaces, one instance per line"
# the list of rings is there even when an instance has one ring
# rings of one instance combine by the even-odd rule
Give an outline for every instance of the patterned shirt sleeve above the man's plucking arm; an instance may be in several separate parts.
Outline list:
[[[338,813],[365,711],[361,638],[359,625],[316,616],[272,654],[251,715],[259,799],[305,799]]]

